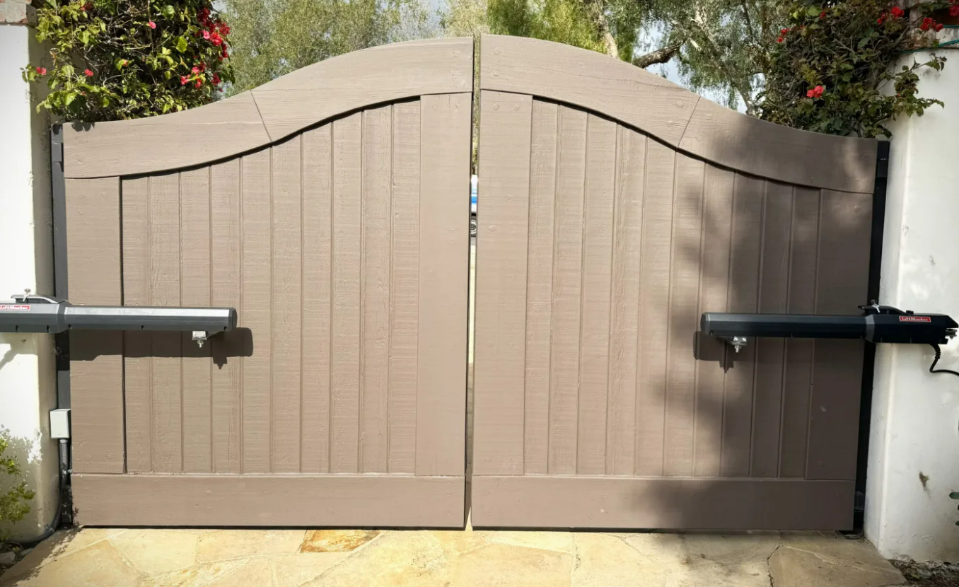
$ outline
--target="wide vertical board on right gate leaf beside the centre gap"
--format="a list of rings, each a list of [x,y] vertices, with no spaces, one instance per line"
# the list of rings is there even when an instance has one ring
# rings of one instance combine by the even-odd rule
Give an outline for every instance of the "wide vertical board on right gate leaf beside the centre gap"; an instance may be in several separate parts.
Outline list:
[[[483,203],[477,237],[474,473],[522,475],[532,98],[484,91],[479,107]],[[429,144],[426,136],[423,144]],[[424,165],[426,160],[424,155]],[[424,213],[427,207],[424,201]],[[426,289],[422,270],[420,275]],[[421,362],[422,357],[421,351]]]

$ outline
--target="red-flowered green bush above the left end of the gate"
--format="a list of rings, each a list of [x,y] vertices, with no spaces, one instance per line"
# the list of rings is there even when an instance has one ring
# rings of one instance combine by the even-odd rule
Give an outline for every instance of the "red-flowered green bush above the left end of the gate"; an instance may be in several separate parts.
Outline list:
[[[231,82],[230,28],[208,0],[46,0],[23,69],[49,88],[38,108],[74,122],[165,114],[211,102]]]

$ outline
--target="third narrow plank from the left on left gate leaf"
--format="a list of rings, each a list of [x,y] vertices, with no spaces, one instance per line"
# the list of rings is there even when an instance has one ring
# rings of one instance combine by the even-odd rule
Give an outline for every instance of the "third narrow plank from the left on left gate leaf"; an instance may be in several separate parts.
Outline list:
[[[210,168],[180,174],[180,303],[210,305]],[[183,471],[211,473],[210,344],[181,335],[183,348]]]

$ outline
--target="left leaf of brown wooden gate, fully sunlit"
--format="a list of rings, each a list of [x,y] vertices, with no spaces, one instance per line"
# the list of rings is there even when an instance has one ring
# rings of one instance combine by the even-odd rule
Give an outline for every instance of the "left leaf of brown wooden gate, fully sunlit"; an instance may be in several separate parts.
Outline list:
[[[70,299],[241,326],[73,333],[82,524],[462,525],[472,72],[400,43],[66,133]]]

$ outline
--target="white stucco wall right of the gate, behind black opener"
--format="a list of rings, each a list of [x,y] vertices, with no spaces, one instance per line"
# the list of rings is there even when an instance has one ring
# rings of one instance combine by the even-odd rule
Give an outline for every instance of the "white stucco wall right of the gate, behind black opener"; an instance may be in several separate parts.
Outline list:
[[[919,87],[946,107],[891,128],[879,302],[959,318],[959,51],[939,51],[945,70]],[[959,340],[942,348],[937,366],[959,371]],[[929,373],[932,359],[929,346],[877,350],[865,529],[888,558],[959,560],[959,377]]]

